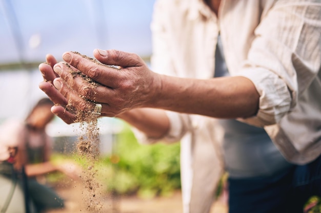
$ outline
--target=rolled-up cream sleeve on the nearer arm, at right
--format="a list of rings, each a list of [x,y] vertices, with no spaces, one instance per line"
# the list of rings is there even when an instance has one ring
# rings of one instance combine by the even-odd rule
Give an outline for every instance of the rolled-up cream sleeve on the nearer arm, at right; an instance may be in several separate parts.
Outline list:
[[[316,77],[321,64],[319,1],[279,1],[262,17],[248,58],[238,73],[260,95],[257,126],[280,121]]]

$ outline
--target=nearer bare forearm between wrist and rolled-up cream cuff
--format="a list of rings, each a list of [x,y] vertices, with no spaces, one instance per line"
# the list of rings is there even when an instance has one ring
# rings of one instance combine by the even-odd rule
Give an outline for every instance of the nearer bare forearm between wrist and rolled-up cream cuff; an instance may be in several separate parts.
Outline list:
[[[216,118],[245,118],[257,113],[259,94],[248,78],[160,78],[162,88],[150,107]]]

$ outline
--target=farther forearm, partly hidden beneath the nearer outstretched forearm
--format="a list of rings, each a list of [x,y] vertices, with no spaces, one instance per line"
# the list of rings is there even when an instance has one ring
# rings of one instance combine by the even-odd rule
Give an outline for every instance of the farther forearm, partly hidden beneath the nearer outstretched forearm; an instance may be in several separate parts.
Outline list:
[[[164,110],[138,108],[122,113],[117,117],[151,138],[160,138],[169,131],[169,119]]]

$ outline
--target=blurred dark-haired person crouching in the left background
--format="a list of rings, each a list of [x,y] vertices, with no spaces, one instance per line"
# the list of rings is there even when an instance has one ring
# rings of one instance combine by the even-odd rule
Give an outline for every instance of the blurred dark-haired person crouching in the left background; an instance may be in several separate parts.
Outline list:
[[[0,143],[15,144],[17,152],[15,156],[9,158],[9,162],[14,166],[14,170],[10,173],[11,176],[14,176],[12,173],[21,174],[22,179],[25,176],[26,180],[22,180],[21,185],[26,187],[25,199],[29,204],[31,203],[29,208],[32,212],[44,212],[47,209],[65,207],[64,199],[57,195],[52,188],[42,183],[45,180],[45,175],[52,172],[62,172],[76,179],[79,174],[75,164],[68,162],[54,165],[50,161],[52,139],[46,134],[45,129],[54,118],[54,114],[50,111],[52,106],[53,102],[49,98],[42,98],[35,104],[24,122],[9,119],[2,124],[0,129],[2,133]],[[9,147],[12,148],[12,146]],[[0,167],[7,164],[4,161]],[[7,172],[9,172],[8,170]],[[5,195],[7,191],[2,191],[2,193]]]

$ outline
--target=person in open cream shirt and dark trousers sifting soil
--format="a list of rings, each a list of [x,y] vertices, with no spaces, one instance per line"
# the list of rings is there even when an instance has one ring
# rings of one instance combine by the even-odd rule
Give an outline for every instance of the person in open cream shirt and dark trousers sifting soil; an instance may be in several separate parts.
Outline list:
[[[39,86],[67,123],[75,120],[68,103],[79,111],[100,104],[102,116],[132,124],[141,141],[180,140],[184,212],[209,212],[220,148],[230,212],[303,212],[321,195],[320,15],[313,0],[159,0],[155,72],[131,53],[94,50],[115,69],[66,52],[65,62],[48,55],[39,66]]]

